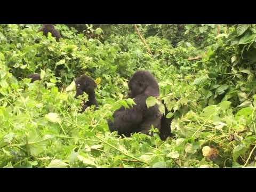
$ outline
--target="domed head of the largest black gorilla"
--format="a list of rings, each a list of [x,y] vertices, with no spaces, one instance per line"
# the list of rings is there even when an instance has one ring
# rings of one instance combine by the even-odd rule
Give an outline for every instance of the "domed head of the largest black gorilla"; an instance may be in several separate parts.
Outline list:
[[[128,86],[129,98],[135,98],[142,93],[153,97],[159,96],[159,86],[155,77],[145,70],[137,71],[130,79]]]

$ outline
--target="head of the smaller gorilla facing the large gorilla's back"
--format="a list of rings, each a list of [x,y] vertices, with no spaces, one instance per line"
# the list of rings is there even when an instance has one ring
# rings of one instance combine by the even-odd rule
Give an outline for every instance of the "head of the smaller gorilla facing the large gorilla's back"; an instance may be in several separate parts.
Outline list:
[[[75,98],[77,98],[79,95],[82,95],[83,92],[87,93],[89,96],[90,94],[94,94],[94,89],[97,87],[97,84],[86,75],[83,75],[81,77],[77,77],[75,79],[76,84],[76,95]]]

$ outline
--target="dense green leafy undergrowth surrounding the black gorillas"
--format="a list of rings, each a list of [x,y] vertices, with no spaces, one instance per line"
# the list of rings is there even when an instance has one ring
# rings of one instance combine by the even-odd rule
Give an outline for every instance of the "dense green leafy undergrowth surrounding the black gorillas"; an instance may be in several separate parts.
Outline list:
[[[255,25],[139,25],[153,55],[132,25],[57,25],[60,42],[39,27],[0,26],[0,167],[256,166]],[[174,116],[166,141],[108,130],[139,69]],[[32,84],[35,72],[43,80]],[[100,107],[81,114],[82,74]]]

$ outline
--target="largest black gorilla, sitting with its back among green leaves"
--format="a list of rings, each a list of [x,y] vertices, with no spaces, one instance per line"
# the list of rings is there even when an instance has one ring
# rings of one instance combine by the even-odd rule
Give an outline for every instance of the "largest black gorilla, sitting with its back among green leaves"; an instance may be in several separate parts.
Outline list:
[[[116,110],[114,122],[108,120],[109,130],[117,131],[119,135],[130,137],[131,133],[149,134],[151,125],[161,130],[162,114],[158,105],[147,108],[146,99],[159,96],[159,86],[153,75],[148,71],[137,71],[129,81],[129,98],[134,99],[136,105],[130,109],[121,107]]]

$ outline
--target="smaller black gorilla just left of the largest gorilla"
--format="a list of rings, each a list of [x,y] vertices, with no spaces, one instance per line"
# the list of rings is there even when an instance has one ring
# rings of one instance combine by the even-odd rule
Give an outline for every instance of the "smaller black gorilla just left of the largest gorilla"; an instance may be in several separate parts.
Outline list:
[[[97,87],[97,84],[91,79],[90,77],[86,75],[82,75],[81,77],[77,77],[75,79],[76,83],[76,95],[75,98],[78,97],[78,95],[82,95],[83,92],[87,93],[88,95],[88,101],[84,102],[82,111],[83,112],[87,107],[90,107],[94,105],[95,107],[98,107],[98,102],[95,98],[95,92],[94,89]]]

